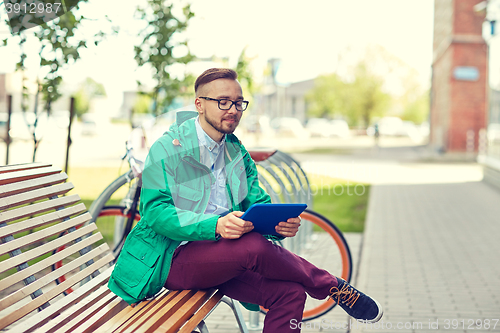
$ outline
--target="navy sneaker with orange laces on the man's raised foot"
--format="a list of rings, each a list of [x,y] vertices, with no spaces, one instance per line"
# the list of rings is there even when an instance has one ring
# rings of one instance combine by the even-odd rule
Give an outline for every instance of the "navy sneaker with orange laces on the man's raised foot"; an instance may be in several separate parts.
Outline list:
[[[382,318],[382,307],[376,300],[363,294],[340,278],[337,278],[337,281],[338,286],[330,289],[330,297],[349,316],[366,323],[376,323]]]

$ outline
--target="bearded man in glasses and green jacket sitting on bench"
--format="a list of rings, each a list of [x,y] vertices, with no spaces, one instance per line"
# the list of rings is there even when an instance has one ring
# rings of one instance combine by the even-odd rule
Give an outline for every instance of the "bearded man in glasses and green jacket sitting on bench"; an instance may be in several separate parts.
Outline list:
[[[129,304],[172,290],[217,288],[269,309],[264,332],[296,332],[306,293],[332,297],[352,317],[376,322],[382,308],[344,280],[252,232],[239,217],[270,203],[250,154],[232,133],[248,106],[237,74],[212,68],[195,83],[196,112],[151,147],[143,173],[142,219],[127,237],[109,288]],[[293,237],[300,217],[276,231]],[[268,236],[267,238],[271,238]],[[249,303],[249,304],[248,304]],[[253,305],[253,306],[252,306]]]

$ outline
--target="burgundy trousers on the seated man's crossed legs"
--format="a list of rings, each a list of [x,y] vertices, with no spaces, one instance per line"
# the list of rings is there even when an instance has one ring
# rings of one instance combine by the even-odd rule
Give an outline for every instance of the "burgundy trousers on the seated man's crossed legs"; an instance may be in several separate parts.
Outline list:
[[[335,276],[255,232],[180,246],[165,283],[174,290],[215,287],[238,301],[262,305],[269,309],[265,333],[300,332],[291,320],[302,320],[306,293],[324,299],[336,286]]]

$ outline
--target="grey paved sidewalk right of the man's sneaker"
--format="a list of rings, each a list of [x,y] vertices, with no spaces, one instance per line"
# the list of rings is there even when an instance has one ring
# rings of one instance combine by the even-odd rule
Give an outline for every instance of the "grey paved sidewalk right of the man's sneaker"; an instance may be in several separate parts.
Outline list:
[[[483,182],[373,186],[357,286],[384,323],[351,332],[500,332],[499,217]]]

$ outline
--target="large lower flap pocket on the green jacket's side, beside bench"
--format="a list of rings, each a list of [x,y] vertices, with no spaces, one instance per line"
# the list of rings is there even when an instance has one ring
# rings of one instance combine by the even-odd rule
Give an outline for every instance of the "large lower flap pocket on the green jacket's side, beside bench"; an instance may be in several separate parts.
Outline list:
[[[113,272],[117,284],[135,298],[146,297],[143,290],[153,275],[159,257],[160,254],[151,245],[131,237],[120,253]]]

